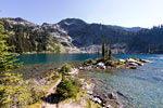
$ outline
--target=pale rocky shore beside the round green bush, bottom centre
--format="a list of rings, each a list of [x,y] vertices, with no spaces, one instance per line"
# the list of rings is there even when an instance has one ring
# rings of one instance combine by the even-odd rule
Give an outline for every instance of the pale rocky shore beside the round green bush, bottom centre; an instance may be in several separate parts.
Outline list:
[[[126,108],[126,106],[118,100],[117,93],[124,95],[121,92],[111,92],[105,95],[104,93],[96,90],[96,84],[93,81],[91,81],[89,85],[86,84],[84,87],[87,91],[87,94],[85,94],[84,96],[95,102],[96,104],[99,104],[102,108]]]

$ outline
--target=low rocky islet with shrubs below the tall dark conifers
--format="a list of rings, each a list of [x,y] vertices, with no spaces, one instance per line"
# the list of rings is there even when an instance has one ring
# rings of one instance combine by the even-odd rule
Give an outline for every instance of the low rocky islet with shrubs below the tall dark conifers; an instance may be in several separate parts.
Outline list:
[[[127,59],[103,59],[103,58],[97,58],[93,59],[87,59],[84,62],[83,66],[79,67],[80,70],[86,69],[137,69],[139,66],[143,66],[145,63],[151,63],[150,60],[141,59],[141,58],[127,58]]]

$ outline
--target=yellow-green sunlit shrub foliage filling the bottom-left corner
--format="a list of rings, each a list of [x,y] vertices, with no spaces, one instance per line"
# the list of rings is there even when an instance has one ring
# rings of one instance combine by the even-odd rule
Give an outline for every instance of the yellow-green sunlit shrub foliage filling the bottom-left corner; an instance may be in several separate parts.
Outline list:
[[[28,104],[32,94],[22,75],[5,72],[0,82],[1,108],[23,108]]]

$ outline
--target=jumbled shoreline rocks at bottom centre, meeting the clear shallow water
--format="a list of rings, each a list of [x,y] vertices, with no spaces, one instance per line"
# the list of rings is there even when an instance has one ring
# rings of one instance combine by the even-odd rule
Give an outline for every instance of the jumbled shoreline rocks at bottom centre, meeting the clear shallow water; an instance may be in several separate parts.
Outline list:
[[[95,81],[91,81],[91,85],[93,86],[92,92],[89,91],[87,95],[85,95],[90,100],[99,104],[102,108],[129,108],[127,105],[123,104],[120,99],[120,95],[124,98],[128,98],[128,96],[121,91],[103,93],[103,91],[98,90],[98,85]]]

